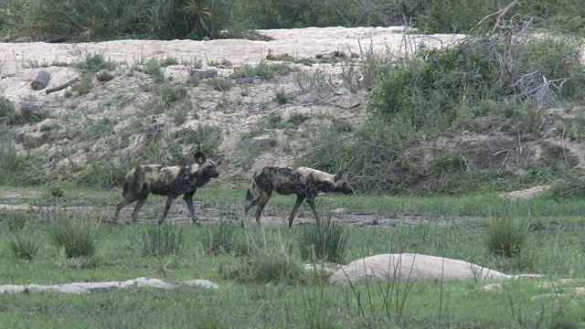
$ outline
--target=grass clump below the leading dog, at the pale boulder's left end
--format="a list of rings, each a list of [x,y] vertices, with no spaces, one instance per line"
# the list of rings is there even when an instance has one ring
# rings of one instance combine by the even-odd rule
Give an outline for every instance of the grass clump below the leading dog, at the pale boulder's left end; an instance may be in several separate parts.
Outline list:
[[[304,227],[299,239],[303,260],[341,263],[346,254],[347,233],[330,218],[320,224]]]

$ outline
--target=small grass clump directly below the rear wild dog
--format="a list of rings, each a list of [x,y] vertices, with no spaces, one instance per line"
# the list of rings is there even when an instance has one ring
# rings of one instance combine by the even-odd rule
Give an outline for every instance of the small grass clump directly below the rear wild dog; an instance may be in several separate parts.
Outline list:
[[[185,244],[185,229],[176,225],[147,228],[142,239],[143,256],[178,255]]]

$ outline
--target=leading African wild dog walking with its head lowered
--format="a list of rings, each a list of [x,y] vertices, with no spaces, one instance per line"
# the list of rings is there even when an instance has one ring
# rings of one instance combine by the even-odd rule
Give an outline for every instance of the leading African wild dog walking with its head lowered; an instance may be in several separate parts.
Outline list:
[[[293,169],[268,166],[252,177],[246,193],[246,220],[249,218],[250,207],[259,205],[256,209],[256,222],[261,225],[261,212],[271,198],[272,191],[285,196],[296,195],[293,212],[289,216],[289,228],[293,226],[293,219],[305,198],[313,210],[317,224],[319,224],[319,215],[314,207],[314,198],[319,192],[341,192],[346,195],[354,193],[351,186],[347,184],[346,175],[341,172],[331,175],[307,167]]]

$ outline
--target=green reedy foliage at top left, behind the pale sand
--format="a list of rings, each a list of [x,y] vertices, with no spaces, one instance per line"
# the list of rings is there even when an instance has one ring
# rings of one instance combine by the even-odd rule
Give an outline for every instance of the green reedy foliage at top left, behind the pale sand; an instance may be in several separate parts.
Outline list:
[[[216,37],[229,23],[232,2],[211,0],[9,1],[5,30],[31,37],[78,40]]]

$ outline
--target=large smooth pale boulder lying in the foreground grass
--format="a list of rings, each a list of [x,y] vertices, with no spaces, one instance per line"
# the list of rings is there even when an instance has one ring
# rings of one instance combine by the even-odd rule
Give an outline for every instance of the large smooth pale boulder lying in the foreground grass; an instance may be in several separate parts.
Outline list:
[[[533,276],[533,275],[523,275]],[[511,279],[514,276],[490,270],[463,260],[427,256],[415,253],[381,254],[354,260],[342,266],[329,278],[329,283],[346,285],[350,282],[422,280],[443,281],[461,279]]]

